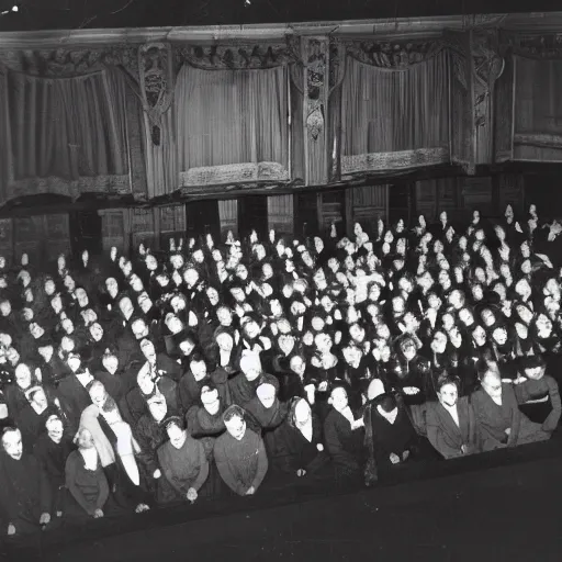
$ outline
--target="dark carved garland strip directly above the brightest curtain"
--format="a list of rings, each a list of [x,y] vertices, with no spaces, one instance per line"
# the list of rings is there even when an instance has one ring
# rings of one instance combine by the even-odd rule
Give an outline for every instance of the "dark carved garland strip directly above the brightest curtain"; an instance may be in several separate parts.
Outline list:
[[[288,37],[270,45],[182,45],[176,47],[176,59],[203,70],[248,70],[299,63],[300,56],[295,41]]]

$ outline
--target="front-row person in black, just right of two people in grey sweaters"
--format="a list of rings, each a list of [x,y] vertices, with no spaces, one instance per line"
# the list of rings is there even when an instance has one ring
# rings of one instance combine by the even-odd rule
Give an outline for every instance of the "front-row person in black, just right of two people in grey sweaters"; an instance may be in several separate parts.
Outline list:
[[[288,416],[272,432],[271,467],[291,476],[314,477],[329,462],[321,420],[305,398],[296,396],[288,406]]]

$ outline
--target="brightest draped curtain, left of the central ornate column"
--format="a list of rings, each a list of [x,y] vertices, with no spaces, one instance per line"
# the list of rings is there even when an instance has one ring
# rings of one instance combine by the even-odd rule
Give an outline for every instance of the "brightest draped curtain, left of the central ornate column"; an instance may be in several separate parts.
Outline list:
[[[289,179],[288,83],[286,66],[202,70],[186,64],[175,93],[181,186]]]

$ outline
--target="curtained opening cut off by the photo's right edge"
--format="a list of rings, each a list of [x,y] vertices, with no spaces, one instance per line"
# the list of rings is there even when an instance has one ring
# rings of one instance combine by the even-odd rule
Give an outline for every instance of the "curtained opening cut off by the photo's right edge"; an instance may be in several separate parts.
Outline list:
[[[515,57],[514,159],[562,160],[562,60]]]

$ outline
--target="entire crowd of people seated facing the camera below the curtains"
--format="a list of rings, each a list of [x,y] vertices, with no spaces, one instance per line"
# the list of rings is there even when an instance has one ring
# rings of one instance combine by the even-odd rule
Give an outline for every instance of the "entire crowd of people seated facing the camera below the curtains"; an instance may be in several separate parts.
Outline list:
[[[549,439],[561,271],[537,248],[559,231],[508,207],[0,258],[3,531]]]

